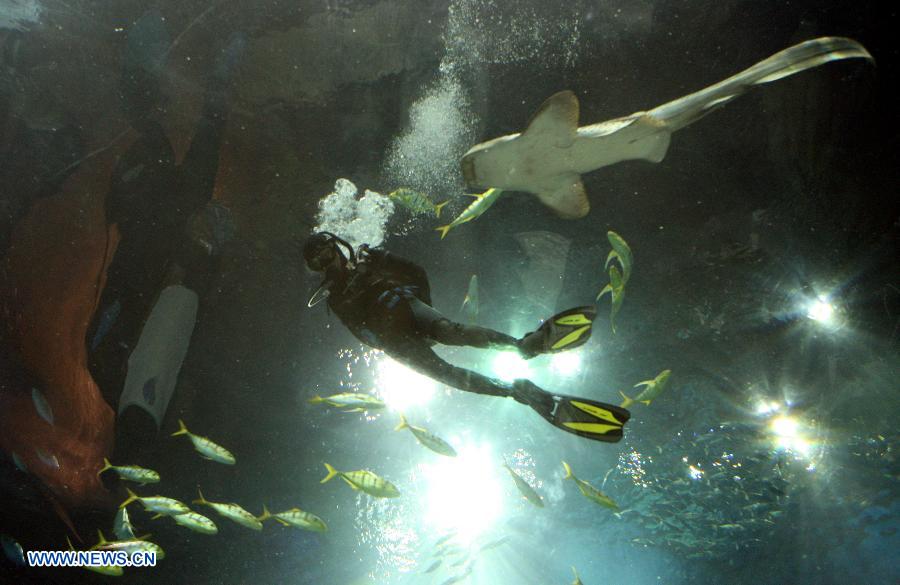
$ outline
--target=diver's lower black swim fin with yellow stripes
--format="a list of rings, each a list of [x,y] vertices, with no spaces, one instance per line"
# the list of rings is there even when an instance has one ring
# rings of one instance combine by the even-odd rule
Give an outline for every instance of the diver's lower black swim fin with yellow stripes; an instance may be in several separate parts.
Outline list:
[[[553,426],[594,441],[622,440],[622,429],[631,418],[631,413],[619,406],[547,392],[529,380],[516,380],[512,397],[533,408]]]

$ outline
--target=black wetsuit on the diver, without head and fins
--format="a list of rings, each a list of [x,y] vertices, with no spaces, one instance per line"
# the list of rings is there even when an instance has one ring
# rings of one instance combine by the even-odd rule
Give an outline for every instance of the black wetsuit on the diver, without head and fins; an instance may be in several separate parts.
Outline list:
[[[515,349],[518,341],[493,329],[453,322],[435,310],[421,266],[363,248],[357,265],[327,286],[329,308],[366,345],[448,386],[510,395],[512,384],[449,364],[431,349],[435,343]]]

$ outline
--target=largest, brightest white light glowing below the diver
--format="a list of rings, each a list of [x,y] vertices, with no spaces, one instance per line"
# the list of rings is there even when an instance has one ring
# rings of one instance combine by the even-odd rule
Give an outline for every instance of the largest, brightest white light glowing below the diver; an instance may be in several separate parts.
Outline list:
[[[464,445],[456,457],[423,466],[426,524],[435,533],[453,531],[462,543],[489,530],[503,512],[498,469],[487,445]]]

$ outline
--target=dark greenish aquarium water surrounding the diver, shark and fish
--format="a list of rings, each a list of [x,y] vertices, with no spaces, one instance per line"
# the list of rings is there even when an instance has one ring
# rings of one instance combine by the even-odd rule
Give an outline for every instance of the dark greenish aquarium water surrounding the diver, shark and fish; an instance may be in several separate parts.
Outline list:
[[[63,550],[64,515],[78,548],[97,528],[110,537],[125,485],[92,478],[114,454],[162,476],[128,484],[140,495],[190,503],[199,487],[328,525],[256,532],[207,508],[219,527],[207,536],[133,505],[136,533],[166,558],[122,582],[550,584],[571,583],[572,567],[585,585],[900,581],[896,16],[851,2],[3,0],[0,533]],[[582,219],[511,193],[443,240],[433,231],[468,204],[466,150],[521,132],[555,92],[573,90],[580,124],[593,124],[822,36],[859,41],[875,64],[753,88],[675,133],[661,162],[585,173]],[[348,207],[325,200],[339,178],[450,203],[440,219]],[[227,211],[210,211],[211,197]],[[206,226],[191,241],[212,255],[183,243],[191,217]],[[615,333],[605,296],[571,354],[439,353],[615,404],[665,369],[669,386],[629,407],[621,442],[600,443],[417,377],[324,304],[307,308],[320,279],[296,242],[317,225],[419,263],[452,319],[467,319],[477,275],[478,324],[516,336],[594,302],[614,230],[634,254]],[[199,307],[162,429],[114,424],[105,403],[117,408],[172,283]],[[155,400],[163,386],[142,391]],[[348,390],[389,408],[308,402]],[[401,410],[458,457],[394,432]],[[170,437],[179,418],[236,465]],[[562,461],[618,513],[583,497]],[[320,484],[324,463],[371,469],[401,496]],[[447,535],[455,548],[436,546]],[[0,561],[2,583],[109,579]]]

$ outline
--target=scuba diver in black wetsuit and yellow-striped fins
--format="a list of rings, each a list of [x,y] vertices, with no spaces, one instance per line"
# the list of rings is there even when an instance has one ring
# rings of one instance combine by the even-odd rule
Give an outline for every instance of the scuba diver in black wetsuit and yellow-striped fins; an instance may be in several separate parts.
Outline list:
[[[526,359],[566,351],[590,337],[596,316],[593,306],[564,311],[516,339],[493,329],[449,320],[431,306],[425,270],[385,250],[364,244],[354,253],[345,240],[330,232],[318,232],[307,239],[303,257],[310,270],[325,275],[308,306],[327,299],[328,307],[366,345],[448,386],[512,397],[564,431],[597,441],[622,438],[622,427],[631,416],[624,408],[547,392],[526,379],[507,383],[490,378],[444,361],[431,348],[437,343],[512,348]]]

